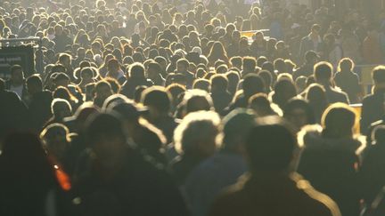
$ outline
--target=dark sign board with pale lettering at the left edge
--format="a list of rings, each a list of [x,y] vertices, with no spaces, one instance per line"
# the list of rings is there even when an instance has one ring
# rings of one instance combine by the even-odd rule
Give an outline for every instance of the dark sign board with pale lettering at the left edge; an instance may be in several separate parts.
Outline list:
[[[7,79],[11,76],[12,65],[20,65],[24,76],[35,73],[35,58],[32,46],[0,47],[0,77]]]

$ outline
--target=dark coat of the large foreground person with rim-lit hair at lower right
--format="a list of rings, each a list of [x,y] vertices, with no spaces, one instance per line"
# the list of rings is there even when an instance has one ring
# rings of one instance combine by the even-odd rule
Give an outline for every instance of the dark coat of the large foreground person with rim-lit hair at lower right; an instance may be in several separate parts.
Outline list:
[[[308,131],[298,172],[309,180],[316,190],[330,196],[340,207],[342,215],[359,215],[356,150],[358,140],[324,138],[320,132]]]

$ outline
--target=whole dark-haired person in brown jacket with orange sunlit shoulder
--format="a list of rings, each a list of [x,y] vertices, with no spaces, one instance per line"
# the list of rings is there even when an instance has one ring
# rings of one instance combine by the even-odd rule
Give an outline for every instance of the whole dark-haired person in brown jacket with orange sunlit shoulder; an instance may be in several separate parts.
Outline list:
[[[250,175],[219,196],[209,216],[340,215],[332,199],[289,172],[296,145],[282,120],[259,119],[246,141]]]

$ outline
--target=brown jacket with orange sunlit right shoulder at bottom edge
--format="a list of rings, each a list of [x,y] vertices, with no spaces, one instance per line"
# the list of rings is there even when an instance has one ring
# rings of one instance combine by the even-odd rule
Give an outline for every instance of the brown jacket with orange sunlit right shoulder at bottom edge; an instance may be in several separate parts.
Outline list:
[[[209,216],[340,216],[331,198],[297,173],[244,177],[212,204]]]

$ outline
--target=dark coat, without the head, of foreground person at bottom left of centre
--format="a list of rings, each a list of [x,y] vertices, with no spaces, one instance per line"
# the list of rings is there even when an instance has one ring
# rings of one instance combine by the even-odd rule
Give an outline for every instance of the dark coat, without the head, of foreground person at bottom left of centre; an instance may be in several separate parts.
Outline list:
[[[82,199],[82,215],[101,211],[116,216],[188,215],[184,198],[171,176],[135,150],[127,149],[123,166],[109,180],[92,164],[91,172],[74,187]]]

